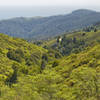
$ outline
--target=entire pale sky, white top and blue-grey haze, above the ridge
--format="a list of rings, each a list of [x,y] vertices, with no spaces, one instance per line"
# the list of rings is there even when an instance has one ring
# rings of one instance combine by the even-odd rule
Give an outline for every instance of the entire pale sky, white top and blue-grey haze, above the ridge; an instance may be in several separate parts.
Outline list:
[[[67,14],[76,9],[100,11],[100,0],[0,0],[0,20]]]

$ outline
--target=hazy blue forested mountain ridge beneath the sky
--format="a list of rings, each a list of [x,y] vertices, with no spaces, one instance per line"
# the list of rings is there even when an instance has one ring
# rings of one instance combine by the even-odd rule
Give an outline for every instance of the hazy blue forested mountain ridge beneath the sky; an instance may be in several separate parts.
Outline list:
[[[3,20],[0,21],[0,32],[14,37],[45,39],[99,21],[99,12],[81,9],[67,15]]]

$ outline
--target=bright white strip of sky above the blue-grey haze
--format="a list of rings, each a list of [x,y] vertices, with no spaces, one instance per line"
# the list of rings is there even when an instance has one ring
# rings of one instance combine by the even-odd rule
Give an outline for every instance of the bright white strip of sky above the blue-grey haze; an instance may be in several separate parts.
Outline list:
[[[100,0],[0,0],[0,6],[100,5]]]

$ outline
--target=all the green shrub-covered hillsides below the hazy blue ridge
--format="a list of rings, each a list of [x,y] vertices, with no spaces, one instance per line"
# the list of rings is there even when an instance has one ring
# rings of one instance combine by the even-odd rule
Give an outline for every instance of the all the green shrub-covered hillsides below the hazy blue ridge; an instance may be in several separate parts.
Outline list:
[[[0,34],[0,100],[100,100],[99,26],[35,44]]]

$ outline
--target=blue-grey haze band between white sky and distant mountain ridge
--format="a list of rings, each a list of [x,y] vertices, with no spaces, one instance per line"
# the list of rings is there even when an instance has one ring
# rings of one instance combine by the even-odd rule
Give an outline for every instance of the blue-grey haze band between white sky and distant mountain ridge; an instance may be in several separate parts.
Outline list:
[[[45,9],[45,7],[47,9]],[[52,8],[51,8],[52,7]],[[53,8],[54,7],[54,8]],[[50,17],[50,16],[58,16],[58,15],[66,15],[69,14],[75,10],[79,10],[79,9],[86,9],[86,10],[92,10],[92,11],[96,11],[96,12],[100,12],[100,8],[98,9],[94,9],[94,8],[74,8],[74,7],[62,7],[62,6],[42,6],[42,8],[40,7],[41,11],[39,11],[39,8],[36,7],[21,7],[22,9],[20,9],[20,7],[14,7],[14,9],[11,9],[13,7],[0,7],[0,8],[4,8],[4,9],[0,9],[0,20],[8,20],[8,19],[13,19],[13,18],[20,18],[20,17],[24,17],[24,18],[35,18],[35,17]],[[32,9],[33,8],[33,9]],[[35,8],[35,9],[34,9]]]

